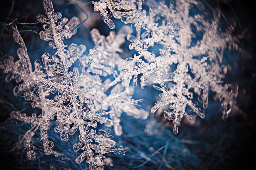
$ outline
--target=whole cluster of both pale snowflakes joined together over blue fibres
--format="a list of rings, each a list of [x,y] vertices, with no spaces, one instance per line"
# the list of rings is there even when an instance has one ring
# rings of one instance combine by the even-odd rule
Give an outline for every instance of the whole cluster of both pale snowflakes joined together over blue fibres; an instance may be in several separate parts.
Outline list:
[[[147,111],[138,108],[143,100],[134,100],[130,96],[130,81],[133,78],[132,84],[136,87],[138,76],[141,88],[148,84],[151,75],[154,76],[156,85],[153,87],[162,93],[161,100],[155,103],[151,112],[164,110],[164,116],[174,123],[174,133],[178,133],[183,116],[194,121],[186,112],[187,107],[204,118],[201,109],[207,108],[210,90],[216,93],[214,98],[222,102],[223,118],[231,110],[238,109],[238,87],[223,84],[230,67],[221,64],[223,51],[236,48],[236,44],[229,32],[218,30],[218,12],[213,20],[207,21],[203,15],[189,14],[192,5],[200,5],[197,1],[177,0],[169,6],[154,0],[146,3],[143,0],[93,2],[94,10],[101,12],[110,29],[115,28],[112,16],[130,26],[124,25],[117,33],[112,31],[108,37],[93,29],[91,36],[95,47],[84,55],[86,46],[63,43],[76,33],[79,19],[72,17],[68,21],[61,13],[55,13],[51,0],[43,0],[43,4],[46,16],[37,16],[37,20],[44,24],[39,35],[42,40],[49,41],[56,53],[43,54],[43,65],[36,60],[33,68],[18,29],[12,27],[16,43],[20,45],[17,50],[19,60],[15,62],[10,56],[0,63],[0,68],[8,74],[6,81],[15,79],[19,83],[14,94],[23,93],[25,99],[32,102],[32,107],[42,110],[40,115],[31,116],[18,111],[11,113],[13,118],[31,124],[31,129],[17,144],[19,148],[28,149],[28,159],[36,158],[32,138],[37,130],[45,154],[61,155],[52,150],[53,142],[48,139],[47,131],[52,120],[56,121],[54,130],[63,141],[68,141],[68,136],[79,130],[79,142],[73,149],[76,152],[82,150],[82,153],[75,159],[76,163],[86,159],[90,169],[103,169],[105,153],[125,154],[129,149],[118,147],[112,140],[110,129],[113,127],[116,135],[122,134],[119,119],[122,113],[134,118],[148,117]],[[149,7],[149,12],[143,10],[143,5]],[[193,43],[197,32],[202,37]],[[138,54],[123,60],[119,54],[125,39],[131,42],[129,49],[135,49]],[[79,68],[74,67],[75,64]],[[108,76],[113,76],[114,81],[108,78],[102,81],[101,77]],[[202,108],[192,102],[193,95],[199,96]],[[98,123],[104,124],[106,129],[96,132]]]

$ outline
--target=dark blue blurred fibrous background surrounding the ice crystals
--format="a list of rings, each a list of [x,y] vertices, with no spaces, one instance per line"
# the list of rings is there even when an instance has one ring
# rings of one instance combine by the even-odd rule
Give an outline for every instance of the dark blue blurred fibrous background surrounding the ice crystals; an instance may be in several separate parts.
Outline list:
[[[79,17],[80,21],[88,19],[78,29],[76,35],[65,40],[65,44],[84,44],[85,54],[94,47],[90,31],[97,28],[101,35],[109,35],[112,31],[102,21],[99,12],[93,9],[92,1],[86,0],[53,0],[55,12],[61,12],[71,19]],[[253,167],[255,154],[255,113],[256,113],[256,58],[255,58],[255,9],[252,4],[242,0],[201,0],[206,12],[220,9],[223,27],[233,25],[233,36],[238,37],[242,51],[231,51],[224,62],[233,66],[226,76],[227,81],[237,82],[239,94],[237,103],[239,113],[234,113],[226,121],[221,119],[220,103],[213,100],[210,94],[206,118],[196,118],[191,125],[182,120],[179,133],[173,134],[172,123],[163,118],[162,113],[151,114],[148,119],[133,119],[122,114],[121,125],[123,135],[115,136],[119,145],[129,147],[131,151],[125,155],[106,154],[105,169],[245,169]],[[16,24],[28,48],[31,62],[41,59],[44,52],[54,54],[48,43],[39,38],[42,24],[36,16],[44,14],[42,2],[37,0],[3,0],[0,4],[0,61],[12,55],[17,58],[18,45],[12,37],[11,26]],[[123,23],[113,19],[117,32]],[[234,24],[235,23],[235,24]],[[127,58],[133,54],[128,49],[129,42],[123,44]],[[10,118],[13,110],[24,112],[39,112],[31,107],[29,101],[16,97],[13,88],[14,80],[5,81],[5,74],[0,70],[0,162],[6,169],[87,169],[86,161],[80,165],[75,163],[79,153],[73,151],[72,145],[78,140],[78,135],[70,137],[68,142],[60,140],[53,128],[49,131],[50,140],[54,142],[55,150],[65,155],[54,157],[45,155],[42,150],[39,134],[36,134],[35,146],[37,159],[26,158],[26,150],[17,149],[19,135],[29,129],[29,124]],[[134,99],[143,98],[142,108],[150,110],[159,98],[159,92],[151,87],[135,88]],[[54,122],[53,122],[54,124]],[[150,126],[148,125],[150,124]],[[114,134],[114,133],[113,133]]]

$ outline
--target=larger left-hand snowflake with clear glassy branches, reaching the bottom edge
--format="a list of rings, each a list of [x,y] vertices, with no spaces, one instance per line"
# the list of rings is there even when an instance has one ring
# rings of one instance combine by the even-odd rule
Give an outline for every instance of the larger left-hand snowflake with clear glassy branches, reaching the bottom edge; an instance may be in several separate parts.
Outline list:
[[[32,107],[40,108],[41,114],[24,114],[13,111],[11,116],[31,124],[31,129],[20,137],[17,146],[28,149],[27,158],[36,158],[33,136],[39,130],[41,141],[46,155],[61,155],[53,151],[53,142],[48,139],[48,130],[53,127],[60,134],[60,139],[68,141],[69,135],[79,130],[79,142],[73,146],[74,151],[82,150],[75,159],[81,163],[84,159],[90,169],[103,169],[105,153],[125,154],[127,147],[118,147],[110,135],[111,127],[114,127],[116,135],[122,134],[120,115],[126,112],[135,118],[146,119],[148,112],[138,109],[139,102],[134,100],[120,84],[107,91],[111,82],[106,79],[102,82],[100,76],[112,75],[117,77],[114,67],[120,59],[122,52],[120,45],[125,37],[131,33],[131,28],[123,28],[115,34],[110,32],[108,37],[99,34],[93,29],[91,34],[95,47],[90,49],[88,55],[83,55],[84,45],[63,43],[64,38],[69,39],[76,33],[80,21],[77,17],[68,20],[55,13],[51,0],[43,0],[45,15],[38,15],[37,20],[43,23],[44,30],[39,33],[40,38],[49,41],[49,46],[56,49],[55,54],[44,53],[42,63],[36,60],[34,68],[30,62],[25,43],[20,36],[17,27],[12,27],[13,37],[21,47],[17,50],[19,60],[14,62],[10,56],[0,63],[0,68],[8,74],[6,81],[15,79],[18,86],[14,88],[14,94],[24,94],[26,100],[32,102]],[[80,67],[74,67],[78,64]],[[33,71],[34,70],[34,71]],[[105,124],[106,129],[95,129],[97,124]]]

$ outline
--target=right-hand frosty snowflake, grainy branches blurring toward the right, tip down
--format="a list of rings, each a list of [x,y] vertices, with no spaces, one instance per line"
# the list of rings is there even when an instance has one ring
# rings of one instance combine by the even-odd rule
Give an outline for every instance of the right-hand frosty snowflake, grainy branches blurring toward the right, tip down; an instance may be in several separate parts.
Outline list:
[[[154,75],[153,83],[158,86],[153,87],[162,93],[151,112],[165,110],[164,116],[174,123],[175,134],[183,116],[194,122],[188,108],[204,118],[210,91],[215,92],[214,99],[222,102],[223,119],[238,110],[238,86],[223,83],[230,66],[222,64],[224,51],[236,50],[237,44],[229,30],[220,31],[218,10],[209,20],[202,14],[204,6],[197,0],[176,0],[169,4],[155,0],[146,3],[100,0],[93,4],[110,29],[114,29],[114,24],[108,10],[113,17],[136,28],[135,35],[130,33],[127,39],[131,41],[129,49],[135,49],[138,54],[120,61],[120,74],[110,85],[122,82],[128,89],[133,78],[135,87],[140,76],[140,85],[144,88],[150,75]],[[149,11],[143,10],[143,6]],[[195,7],[199,12],[190,13]],[[198,96],[202,106],[197,106],[193,96]]]

